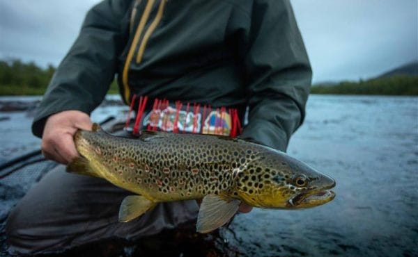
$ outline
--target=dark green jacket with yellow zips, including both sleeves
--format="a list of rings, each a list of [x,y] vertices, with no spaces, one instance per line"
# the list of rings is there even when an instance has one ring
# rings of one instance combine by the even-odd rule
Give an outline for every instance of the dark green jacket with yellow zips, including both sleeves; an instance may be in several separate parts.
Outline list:
[[[91,113],[115,74],[127,103],[137,94],[249,106],[240,138],[282,151],[302,124],[311,85],[289,1],[104,0],[56,70],[33,133],[42,136],[54,113]]]

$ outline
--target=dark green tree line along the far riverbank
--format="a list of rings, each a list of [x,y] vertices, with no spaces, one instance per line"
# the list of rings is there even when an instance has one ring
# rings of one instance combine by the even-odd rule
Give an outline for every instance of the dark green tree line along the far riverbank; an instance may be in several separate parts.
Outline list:
[[[0,60],[0,95],[44,94],[56,68],[42,68],[33,62]],[[116,81],[109,93],[118,93]],[[343,81],[336,85],[314,85],[312,94],[418,95],[418,76],[391,76],[366,81]]]

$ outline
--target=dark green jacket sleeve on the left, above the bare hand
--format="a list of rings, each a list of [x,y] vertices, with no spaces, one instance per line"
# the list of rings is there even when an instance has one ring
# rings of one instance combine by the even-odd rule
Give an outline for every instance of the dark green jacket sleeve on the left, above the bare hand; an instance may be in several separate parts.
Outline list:
[[[128,0],[105,0],[88,11],[75,43],[56,69],[33,119],[41,137],[49,115],[63,110],[90,114],[109,90],[129,32]]]

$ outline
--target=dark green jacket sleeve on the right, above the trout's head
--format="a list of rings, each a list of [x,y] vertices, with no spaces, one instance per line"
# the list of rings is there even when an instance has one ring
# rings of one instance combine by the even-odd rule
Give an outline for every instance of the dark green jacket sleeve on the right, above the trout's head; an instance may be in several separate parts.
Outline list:
[[[243,57],[249,99],[240,138],[285,151],[302,124],[311,67],[289,1],[254,1]]]

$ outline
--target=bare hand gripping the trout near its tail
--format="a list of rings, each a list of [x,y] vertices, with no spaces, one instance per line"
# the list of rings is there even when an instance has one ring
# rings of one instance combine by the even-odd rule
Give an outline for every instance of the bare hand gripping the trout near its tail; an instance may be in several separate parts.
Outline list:
[[[47,159],[68,164],[79,156],[72,136],[78,128],[91,130],[90,117],[79,110],[65,110],[48,117],[42,133],[42,154]]]

